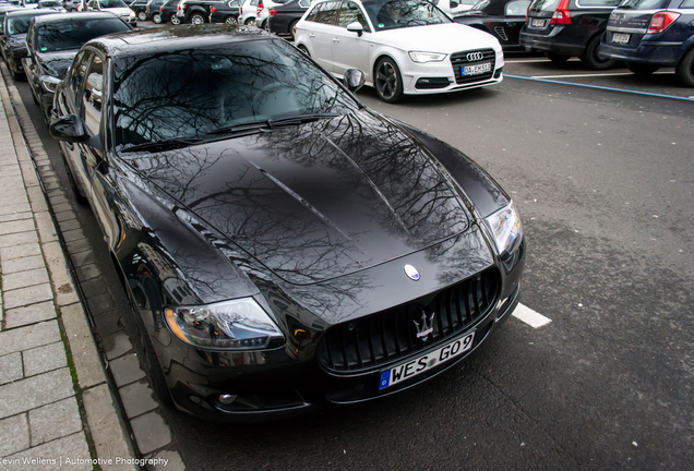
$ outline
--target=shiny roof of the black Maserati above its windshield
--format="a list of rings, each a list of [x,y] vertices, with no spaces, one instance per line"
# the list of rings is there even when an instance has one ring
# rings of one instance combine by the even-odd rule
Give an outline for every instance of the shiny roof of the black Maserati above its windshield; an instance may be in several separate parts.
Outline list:
[[[167,52],[204,48],[256,39],[274,39],[275,35],[243,25],[178,25],[115,33],[88,41],[110,58],[124,58],[146,52]]]

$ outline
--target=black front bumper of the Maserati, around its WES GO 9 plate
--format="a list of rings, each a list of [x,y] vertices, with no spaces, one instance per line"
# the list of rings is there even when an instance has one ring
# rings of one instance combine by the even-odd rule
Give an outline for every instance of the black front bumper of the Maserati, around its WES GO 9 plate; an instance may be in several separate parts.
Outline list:
[[[525,243],[510,273],[501,268],[500,295],[483,317],[453,337],[362,372],[333,373],[321,366],[318,338],[303,346],[288,338],[284,347],[274,350],[211,352],[169,337],[168,329],[161,327],[164,337],[159,336],[158,342],[167,347],[159,358],[165,365],[171,397],[180,410],[202,420],[244,423],[294,416],[331,404],[362,402],[408,389],[462,361],[508,318],[518,303],[524,247]],[[384,390],[379,389],[382,371],[421,358],[471,331],[476,337],[470,350]],[[229,395],[234,400],[225,404],[220,395]]]

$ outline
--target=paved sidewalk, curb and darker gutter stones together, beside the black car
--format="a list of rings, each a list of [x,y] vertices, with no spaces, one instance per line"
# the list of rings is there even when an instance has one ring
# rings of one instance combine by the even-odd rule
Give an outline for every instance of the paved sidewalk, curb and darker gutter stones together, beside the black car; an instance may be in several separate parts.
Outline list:
[[[0,94],[0,469],[182,471],[113,288],[16,88]]]

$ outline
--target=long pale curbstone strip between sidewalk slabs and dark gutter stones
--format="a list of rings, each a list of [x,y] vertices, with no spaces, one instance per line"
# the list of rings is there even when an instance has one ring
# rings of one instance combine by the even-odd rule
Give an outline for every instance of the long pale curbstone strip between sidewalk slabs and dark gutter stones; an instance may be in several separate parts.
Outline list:
[[[83,300],[77,295],[77,283],[74,282],[71,264],[63,253],[64,239],[57,230],[59,225],[52,205],[62,201],[47,195],[49,190],[59,188],[57,179],[33,125],[23,123],[16,116],[15,107],[23,108],[23,104],[16,100],[16,88],[13,85],[8,86],[4,81],[8,73],[5,65],[1,64],[1,69],[3,81],[0,95],[43,242],[43,256],[53,288],[63,342],[72,358],[73,373],[76,375],[73,382],[77,398],[81,397],[82,421],[87,442],[92,452],[99,459],[101,470],[136,470],[139,467],[135,464],[122,463],[135,461],[136,455],[128,428],[120,419],[123,414],[105,374]],[[117,463],[117,458],[123,461]]]

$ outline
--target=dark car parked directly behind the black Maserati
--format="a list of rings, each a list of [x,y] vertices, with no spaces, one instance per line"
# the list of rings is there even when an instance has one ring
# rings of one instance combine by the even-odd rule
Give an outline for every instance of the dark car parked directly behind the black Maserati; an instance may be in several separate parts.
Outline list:
[[[53,107],[56,86],[65,77],[72,59],[86,41],[131,27],[107,12],[53,13],[32,20],[22,59],[34,99],[46,120]]]

